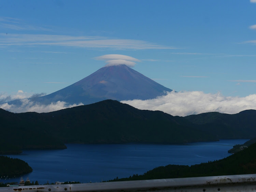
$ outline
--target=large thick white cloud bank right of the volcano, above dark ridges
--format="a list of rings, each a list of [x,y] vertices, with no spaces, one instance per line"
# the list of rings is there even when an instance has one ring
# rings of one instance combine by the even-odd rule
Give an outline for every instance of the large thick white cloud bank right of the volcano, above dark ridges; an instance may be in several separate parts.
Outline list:
[[[121,101],[138,109],[160,110],[173,116],[187,116],[206,112],[236,114],[256,109],[256,94],[246,97],[225,97],[220,93],[202,91],[168,92],[151,100]]]

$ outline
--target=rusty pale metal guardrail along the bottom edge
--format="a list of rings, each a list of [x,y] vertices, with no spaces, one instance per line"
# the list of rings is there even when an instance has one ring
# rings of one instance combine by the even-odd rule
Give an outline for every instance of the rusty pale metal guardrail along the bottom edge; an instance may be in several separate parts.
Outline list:
[[[0,192],[256,191],[256,174],[3,187]]]

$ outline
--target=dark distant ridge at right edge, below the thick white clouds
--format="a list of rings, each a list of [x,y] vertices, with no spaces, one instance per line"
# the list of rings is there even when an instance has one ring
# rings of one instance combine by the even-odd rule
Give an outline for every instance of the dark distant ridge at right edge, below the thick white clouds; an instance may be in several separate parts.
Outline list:
[[[256,110],[238,114],[218,112],[189,115],[185,119],[199,125],[199,129],[214,134],[219,139],[253,138],[256,136]]]

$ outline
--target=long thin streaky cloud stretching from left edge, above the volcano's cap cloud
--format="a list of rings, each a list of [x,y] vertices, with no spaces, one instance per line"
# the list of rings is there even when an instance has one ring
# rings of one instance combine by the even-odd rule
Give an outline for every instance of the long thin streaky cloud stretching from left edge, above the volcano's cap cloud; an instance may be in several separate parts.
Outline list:
[[[45,34],[5,34],[0,33],[2,46],[35,46],[51,45],[81,48],[111,48],[111,49],[176,49],[176,47],[162,46],[155,43],[131,40],[109,39],[101,36],[70,36]]]

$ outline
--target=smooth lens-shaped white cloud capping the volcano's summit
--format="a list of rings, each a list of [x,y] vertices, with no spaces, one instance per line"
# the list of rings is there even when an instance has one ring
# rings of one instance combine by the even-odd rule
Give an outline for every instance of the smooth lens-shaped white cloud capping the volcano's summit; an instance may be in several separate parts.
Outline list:
[[[140,62],[139,59],[136,59],[127,55],[118,55],[118,54],[102,55],[99,57],[95,57],[94,59],[105,60],[105,62],[108,63],[105,65],[105,67],[112,66],[112,65],[122,65],[122,64],[125,64],[128,67],[134,67],[136,63],[133,61]]]

